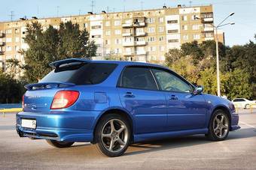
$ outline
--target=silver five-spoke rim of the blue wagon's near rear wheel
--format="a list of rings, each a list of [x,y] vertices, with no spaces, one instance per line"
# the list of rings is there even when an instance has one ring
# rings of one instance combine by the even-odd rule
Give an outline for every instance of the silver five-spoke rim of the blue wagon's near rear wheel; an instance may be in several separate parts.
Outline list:
[[[121,151],[128,142],[126,124],[119,119],[111,119],[102,128],[102,144],[111,152]]]

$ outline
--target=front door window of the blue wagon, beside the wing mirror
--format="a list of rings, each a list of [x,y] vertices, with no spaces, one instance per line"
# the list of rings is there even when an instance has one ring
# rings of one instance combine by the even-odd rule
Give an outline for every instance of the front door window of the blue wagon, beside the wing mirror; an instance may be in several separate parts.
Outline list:
[[[164,70],[152,69],[163,91],[191,92],[192,88],[182,79]]]

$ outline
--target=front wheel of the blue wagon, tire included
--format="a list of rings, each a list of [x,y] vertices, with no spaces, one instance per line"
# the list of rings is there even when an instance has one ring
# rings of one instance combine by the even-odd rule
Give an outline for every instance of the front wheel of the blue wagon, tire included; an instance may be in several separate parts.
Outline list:
[[[222,123],[222,126],[221,124],[218,125],[218,121],[216,121],[215,119],[216,117],[217,119],[222,118],[221,115],[224,116],[224,121]],[[217,123],[217,126],[216,126],[216,123]],[[223,129],[221,127],[223,127]],[[208,137],[208,139],[212,141],[223,141],[224,139],[226,139],[228,136],[228,133],[230,132],[230,118],[228,117],[227,113],[221,109],[215,110],[215,112],[212,114],[212,117],[210,119],[208,129],[209,129],[208,134],[206,134],[206,137]]]

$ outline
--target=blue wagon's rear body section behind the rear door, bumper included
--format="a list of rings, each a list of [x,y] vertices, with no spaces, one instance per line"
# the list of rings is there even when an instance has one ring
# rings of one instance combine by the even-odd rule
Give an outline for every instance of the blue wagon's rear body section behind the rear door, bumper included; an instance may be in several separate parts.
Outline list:
[[[87,73],[76,75],[75,70],[79,64],[80,72],[84,69]],[[97,68],[104,68],[104,66],[105,69],[101,71]],[[72,70],[69,66],[69,70],[72,72],[70,75],[67,73],[61,75],[61,72],[58,75],[58,73],[53,73],[53,70],[40,83],[26,86],[28,91],[23,96],[23,112],[17,114],[17,132],[20,136],[67,142],[93,141],[95,123],[104,109],[109,106],[120,106],[116,89],[110,88],[113,87],[112,84],[117,83],[111,76],[115,76],[119,70],[114,70],[117,64],[104,62],[90,64],[83,61],[81,64],[78,61],[74,67]],[[65,70],[65,66],[61,69]],[[113,71],[116,73],[111,74]],[[84,79],[85,76],[90,79]],[[97,79],[93,79],[93,77]],[[108,80],[104,81],[107,78]],[[52,79],[58,82],[53,82]],[[75,82],[76,85],[63,83],[63,81]],[[108,96],[106,88],[108,88]],[[65,93],[74,93],[77,97],[69,99],[65,97]],[[68,103],[70,106],[61,106],[62,103]]]

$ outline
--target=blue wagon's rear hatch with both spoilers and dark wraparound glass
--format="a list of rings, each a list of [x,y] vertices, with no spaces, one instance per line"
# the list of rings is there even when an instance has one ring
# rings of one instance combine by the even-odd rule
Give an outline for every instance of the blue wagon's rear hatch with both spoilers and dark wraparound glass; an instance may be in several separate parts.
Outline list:
[[[103,82],[116,64],[91,63],[84,59],[66,59],[50,64],[54,68],[40,82],[26,85],[24,112],[47,112],[57,91],[74,85],[95,85]]]

